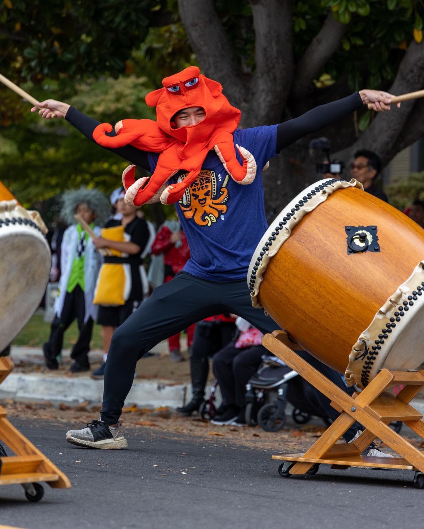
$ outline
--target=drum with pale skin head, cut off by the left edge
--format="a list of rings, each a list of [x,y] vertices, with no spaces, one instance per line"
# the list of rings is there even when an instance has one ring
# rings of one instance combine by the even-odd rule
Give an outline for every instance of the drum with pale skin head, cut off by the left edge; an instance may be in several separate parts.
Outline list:
[[[40,304],[50,273],[46,225],[0,185],[0,351]]]

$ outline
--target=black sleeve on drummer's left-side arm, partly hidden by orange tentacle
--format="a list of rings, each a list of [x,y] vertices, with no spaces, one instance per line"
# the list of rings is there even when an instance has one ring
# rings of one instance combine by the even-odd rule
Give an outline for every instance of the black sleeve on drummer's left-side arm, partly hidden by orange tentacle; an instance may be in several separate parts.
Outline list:
[[[92,117],[86,116],[75,107],[70,106],[68,112],[66,113],[65,120],[68,121],[71,125],[80,131],[86,138],[95,143],[93,139],[93,131],[97,125],[100,125],[100,121],[94,120]],[[116,132],[112,131],[108,134],[109,136],[116,136]],[[109,147],[104,147],[108,151],[115,152],[119,154],[125,160],[134,163],[143,169],[150,170],[149,161],[147,158],[147,152],[141,151],[132,145],[126,145],[125,147],[117,147],[112,149]]]

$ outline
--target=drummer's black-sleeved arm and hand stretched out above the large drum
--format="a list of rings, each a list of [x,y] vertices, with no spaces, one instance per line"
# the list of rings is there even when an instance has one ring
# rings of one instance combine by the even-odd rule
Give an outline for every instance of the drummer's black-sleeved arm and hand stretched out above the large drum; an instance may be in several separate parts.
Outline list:
[[[359,110],[368,103],[373,104],[376,112],[390,110],[391,98],[394,97],[380,90],[361,90],[338,101],[313,108],[302,116],[280,123],[277,127],[277,151],[288,147],[306,134],[316,132],[331,125],[343,117]],[[398,103],[398,107],[400,103]]]

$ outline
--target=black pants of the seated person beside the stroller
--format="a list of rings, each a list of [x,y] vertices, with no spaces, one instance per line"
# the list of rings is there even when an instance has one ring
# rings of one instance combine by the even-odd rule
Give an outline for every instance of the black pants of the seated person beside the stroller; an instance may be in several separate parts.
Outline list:
[[[262,354],[267,353],[262,345],[236,349],[229,343],[215,354],[213,369],[225,405],[244,406],[246,384],[258,371]]]

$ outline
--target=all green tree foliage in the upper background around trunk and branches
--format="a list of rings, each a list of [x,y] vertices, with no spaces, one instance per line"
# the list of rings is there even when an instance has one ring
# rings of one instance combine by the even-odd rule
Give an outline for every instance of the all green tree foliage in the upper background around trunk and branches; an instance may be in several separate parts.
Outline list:
[[[196,63],[178,20],[177,0],[32,0],[31,8],[26,0],[3,4],[0,71],[40,101],[54,97],[73,103],[99,121],[153,117],[144,103],[146,92],[161,86],[163,77]],[[249,76],[255,70],[251,3],[214,4],[240,70]],[[421,0],[295,0],[295,63],[331,12],[347,31],[317,75],[316,88],[340,79],[347,80],[352,92],[388,88],[404,50],[412,39],[422,39]],[[28,110],[11,90],[0,88],[0,179],[23,203],[82,184],[108,192],[120,184],[124,160],[65,122],[41,122]],[[360,130],[370,118],[370,112],[360,116]]]

